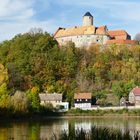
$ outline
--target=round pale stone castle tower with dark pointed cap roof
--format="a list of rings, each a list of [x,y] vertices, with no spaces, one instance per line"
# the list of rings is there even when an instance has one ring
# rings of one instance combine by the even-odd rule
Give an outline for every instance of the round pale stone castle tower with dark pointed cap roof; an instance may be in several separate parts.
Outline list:
[[[91,26],[93,25],[93,16],[90,12],[86,12],[83,16],[83,26]]]

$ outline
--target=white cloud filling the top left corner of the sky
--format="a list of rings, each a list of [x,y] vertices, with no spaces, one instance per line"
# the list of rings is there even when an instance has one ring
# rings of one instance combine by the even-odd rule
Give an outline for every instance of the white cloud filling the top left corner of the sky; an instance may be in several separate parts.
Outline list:
[[[32,5],[33,0],[0,0],[0,19],[28,19],[35,14]]]

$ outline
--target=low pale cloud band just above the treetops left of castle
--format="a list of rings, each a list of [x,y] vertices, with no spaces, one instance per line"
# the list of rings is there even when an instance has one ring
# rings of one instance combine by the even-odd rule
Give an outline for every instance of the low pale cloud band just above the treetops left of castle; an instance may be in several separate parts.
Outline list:
[[[42,28],[44,31],[49,33],[54,32],[57,26],[54,24],[53,20],[50,21],[35,21],[29,20],[25,22],[12,22],[12,23],[0,23],[0,41],[10,39],[16,34],[28,32],[31,28],[37,27]]]

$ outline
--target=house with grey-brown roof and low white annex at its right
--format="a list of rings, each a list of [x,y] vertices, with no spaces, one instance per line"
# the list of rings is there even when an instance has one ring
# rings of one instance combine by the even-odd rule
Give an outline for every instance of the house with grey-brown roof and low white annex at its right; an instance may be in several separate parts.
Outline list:
[[[59,108],[60,110],[67,111],[69,109],[69,103],[62,101],[62,94],[58,93],[40,93],[40,104],[45,106],[51,103],[53,107]]]

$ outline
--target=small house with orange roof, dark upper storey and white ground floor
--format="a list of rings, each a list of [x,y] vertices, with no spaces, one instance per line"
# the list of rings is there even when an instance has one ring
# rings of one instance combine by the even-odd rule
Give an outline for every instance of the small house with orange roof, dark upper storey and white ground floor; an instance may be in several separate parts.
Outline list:
[[[75,93],[74,106],[80,109],[90,109],[92,104],[91,93]]]

